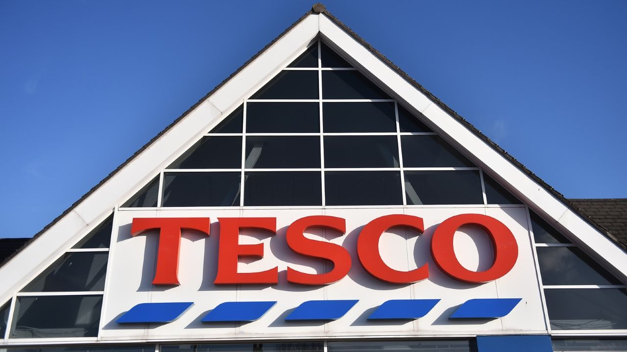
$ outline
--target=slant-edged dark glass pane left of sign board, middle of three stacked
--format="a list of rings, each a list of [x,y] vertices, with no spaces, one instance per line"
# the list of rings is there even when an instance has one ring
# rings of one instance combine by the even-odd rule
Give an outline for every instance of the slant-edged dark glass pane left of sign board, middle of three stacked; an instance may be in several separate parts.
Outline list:
[[[69,252],[22,292],[103,291],[108,252]]]

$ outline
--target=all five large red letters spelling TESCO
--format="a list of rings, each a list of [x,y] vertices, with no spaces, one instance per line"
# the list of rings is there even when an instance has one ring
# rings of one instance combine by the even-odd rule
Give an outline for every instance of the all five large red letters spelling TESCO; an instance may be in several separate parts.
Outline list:
[[[241,257],[263,258],[263,244],[240,244],[240,229],[261,229],[269,236],[277,232],[275,217],[219,217],[218,272],[213,282],[226,284],[277,284],[278,268],[260,272],[238,272]],[[159,231],[157,247],[157,267],[154,285],[178,285],[179,249],[181,230],[196,230],[209,236],[208,217],[168,217],[134,218],[131,236],[148,230]],[[453,249],[453,237],[462,226],[476,226],[482,229],[492,241],[494,259],[492,266],[485,271],[471,271],[458,261]],[[314,215],[295,220],[287,229],[285,241],[295,253],[314,259],[325,259],[333,263],[333,269],[322,274],[308,274],[291,267],[287,268],[287,281],[302,285],[326,285],[346,276],[352,266],[349,251],[338,244],[309,239],[305,230],[319,227],[330,229],[339,236],[346,232],[345,219],[329,215]],[[423,219],[413,215],[385,215],[364,225],[357,239],[359,262],[369,274],[381,281],[393,284],[409,284],[429,277],[429,266],[424,264],[417,269],[398,271],[387,266],[379,254],[379,239],[386,230],[393,227],[408,227],[419,233],[424,232]],[[436,265],[448,276],[459,281],[482,283],[493,281],[507,274],[518,259],[518,245],[510,229],[493,217],[481,214],[460,214],[450,217],[436,227],[431,239],[431,255]]]

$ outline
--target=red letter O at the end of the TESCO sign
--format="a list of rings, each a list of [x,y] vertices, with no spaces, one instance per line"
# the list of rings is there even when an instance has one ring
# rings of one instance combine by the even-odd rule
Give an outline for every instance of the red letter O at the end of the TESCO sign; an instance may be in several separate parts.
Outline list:
[[[480,227],[490,236],[494,248],[494,262],[490,269],[470,271],[457,260],[453,237],[463,225]],[[518,244],[512,231],[497,219],[481,214],[461,214],[446,219],[435,230],[431,239],[431,256],[448,276],[478,284],[496,280],[512,270],[518,259]]]

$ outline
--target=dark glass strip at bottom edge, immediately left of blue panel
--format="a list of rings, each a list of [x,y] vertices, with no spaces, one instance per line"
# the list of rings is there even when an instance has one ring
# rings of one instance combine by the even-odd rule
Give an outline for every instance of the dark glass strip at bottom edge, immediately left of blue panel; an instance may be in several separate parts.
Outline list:
[[[421,341],[329,341],[329,352],[361,351],[420,351],[420,352],[471,352],[476,351],[474,341],[429,340]]]

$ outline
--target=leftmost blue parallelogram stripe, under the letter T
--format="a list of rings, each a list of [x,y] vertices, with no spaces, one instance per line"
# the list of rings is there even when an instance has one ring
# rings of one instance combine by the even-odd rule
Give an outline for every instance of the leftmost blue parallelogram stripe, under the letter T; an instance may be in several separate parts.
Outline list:
[[[140,303],[122,314],[115,323],[170,323],[192,306],[192,302]]]

